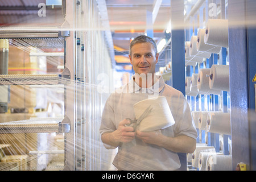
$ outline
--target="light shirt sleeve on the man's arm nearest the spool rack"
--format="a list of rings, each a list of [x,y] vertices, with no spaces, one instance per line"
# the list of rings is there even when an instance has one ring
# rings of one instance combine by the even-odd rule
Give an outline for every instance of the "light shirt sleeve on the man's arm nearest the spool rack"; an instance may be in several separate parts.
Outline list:
[[[179,97],[179,107],[177,109],[175,120],[175,136],[187,135],[194,139],[197,138],[196,126],[193,121],[191,110],[183,94],[180,94]]]

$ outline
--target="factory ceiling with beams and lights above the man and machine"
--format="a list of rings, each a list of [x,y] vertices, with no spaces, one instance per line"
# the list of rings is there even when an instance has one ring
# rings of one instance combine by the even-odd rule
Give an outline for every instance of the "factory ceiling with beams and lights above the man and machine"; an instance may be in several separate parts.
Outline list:
[[[61,6],[47,6],[47,16],[44,19],[37,15],[39,3],[48,2],[0,0],[0,26],[61,26],[64,22]],[[171,0],[105,1],[114,48],[116,52],[125,52],[121,61],[129,61],[127,50],[131,39],[135,36],[151,30],[154,31],[154,39],[157,43],[163,38],[171,19],[170,2]],[[196,0],[185,0],[185,8],[191,8],[195,2]]]

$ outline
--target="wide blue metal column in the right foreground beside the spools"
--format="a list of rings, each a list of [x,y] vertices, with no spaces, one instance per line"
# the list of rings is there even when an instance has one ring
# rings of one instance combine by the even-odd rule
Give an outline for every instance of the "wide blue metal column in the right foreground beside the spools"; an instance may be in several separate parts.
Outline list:
[[[246,5],[250,7],[253,4],[255,5],[254,0],[233,0],[228,2],[230,114],[233,169],[236,169],[237,164],[240,162],[247,164],[246,167],[250,168],[251,135],[248,112],[250,109],[248,92],[250,91],[248,83],[251,80],[248,80],[247,30],[246,24],[237,24],[237,22],[246,22]]]

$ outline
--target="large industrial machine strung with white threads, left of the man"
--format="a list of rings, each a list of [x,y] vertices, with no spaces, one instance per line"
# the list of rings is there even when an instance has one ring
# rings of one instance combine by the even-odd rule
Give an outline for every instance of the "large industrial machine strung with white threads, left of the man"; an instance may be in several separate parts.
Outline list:
[[[105,151],[97,135],[100,113],[108,96],[108,93],[98,92],[97,75],[111,75],[113,59],[111,34],[108,27],[102,27],[107,16],[106,9],[100,12],[104,10],[102,6],[106,8],[104,3],[63,1],[60,16],[64,17],[64,22],[58,27],[0,28],[1,170],[110,168],[111,154]],[[8,59],[9,44],[11,53],[23,51],[29,57],[28,63],[23,57],[22,63],[17,61],[8,74],[8,61],[16,59],[13,56]],[[58,70],[62,71],[42,72],[43,68],[39,67],[40,64],[46,67],[46,59],[52,64],[57,62]],[[35,72],[32,72],[35,70],[33,63],[36,63]],[[22,72],[17,71],[19,64],[22,64]],[[50,99],[55,106],[59,101],[59,115],[49,114],[49,108],[53,108],[49,105],[48,114],[36,113],[35,109],[47,107],[30,103],[38,99],[43,105],[48,97],[53,97]],[[22,101],[19,98],[23,98]],[[18,118],[14,118],[15,114],[19,114]],[[59,160],[56,162],[55,158]]]

